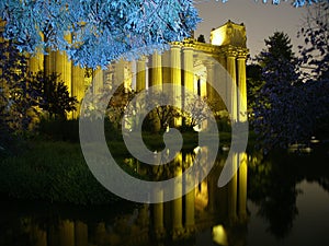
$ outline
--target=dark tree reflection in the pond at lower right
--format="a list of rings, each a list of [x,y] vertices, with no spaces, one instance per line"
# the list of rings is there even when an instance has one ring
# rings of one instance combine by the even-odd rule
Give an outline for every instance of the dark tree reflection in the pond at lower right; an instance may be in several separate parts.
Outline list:
[[[249,159],[249,175],[252,178],[248,184],[248,197],[258,206],[258,215],[265,219],[266,231],[276,238],[286,238],[298,216],[296,201],[302,194],[298,184],[303,180],[316,181],[329,191],[325,185],[329,184],[329,166],[324,164],[328,155],[321,152],[308,155],[271,153],[269,156],[256,153]],[[311,210],[308,212],[314,213]]]

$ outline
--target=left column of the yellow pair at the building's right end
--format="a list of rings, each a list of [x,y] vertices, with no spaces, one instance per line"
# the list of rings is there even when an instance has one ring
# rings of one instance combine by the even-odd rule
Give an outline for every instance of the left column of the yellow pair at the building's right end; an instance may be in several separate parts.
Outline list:
[[[236,74],[236,51],[228,50],[227,54],[227,72],[230,75],[228,78],[228,109],[231,112],[231,119],[237,121],[238,107],[237,107],[237,74]]]

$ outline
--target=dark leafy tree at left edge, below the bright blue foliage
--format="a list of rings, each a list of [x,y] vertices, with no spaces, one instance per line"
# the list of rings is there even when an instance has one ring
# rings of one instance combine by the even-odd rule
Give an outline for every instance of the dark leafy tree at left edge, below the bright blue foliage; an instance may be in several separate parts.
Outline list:
[[[31,86],[27,59],[0,30],[1,118],[16,132],[27,130],[36,116],[37,92]]]

